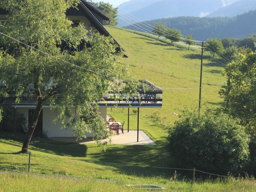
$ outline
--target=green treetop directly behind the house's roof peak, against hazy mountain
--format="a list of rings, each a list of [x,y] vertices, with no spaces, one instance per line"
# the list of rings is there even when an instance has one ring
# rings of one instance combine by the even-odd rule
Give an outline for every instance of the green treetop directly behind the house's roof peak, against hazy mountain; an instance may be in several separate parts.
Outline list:
[[[103,1],[94,3],[93,6],[101,10],[104,15],[110,18],[110,25],[116,26],[118,24],[118,19],[116,18],[118,16],[118,7],[114,8],[110,3],[104,3]],[[108,24],[108,22],[105,24]]]

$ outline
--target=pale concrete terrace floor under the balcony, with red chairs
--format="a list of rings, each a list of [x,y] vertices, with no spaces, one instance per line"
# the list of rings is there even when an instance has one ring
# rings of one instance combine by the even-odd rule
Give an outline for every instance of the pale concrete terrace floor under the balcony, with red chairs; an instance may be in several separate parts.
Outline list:
[[[50,138],[55,141],[62,141],[62,142],[76,142],[75,137],[53,137]],[[109,143],[109,139],[103,139],[103,142],[107,141]],[[84,145],[84,144],[91,144],[96,143],[96,141],[93,141],[92,139],[82,139],[77,141],[78,144]],[[156,145],[155,142],[152,141],[152,139],[147,136],[144,131],[139,130],[139,142],[137,142],[137,130],[124,130],[124,134],[119,135],[113,135],[112,136],[112,142],[110,144],[113,145]]]

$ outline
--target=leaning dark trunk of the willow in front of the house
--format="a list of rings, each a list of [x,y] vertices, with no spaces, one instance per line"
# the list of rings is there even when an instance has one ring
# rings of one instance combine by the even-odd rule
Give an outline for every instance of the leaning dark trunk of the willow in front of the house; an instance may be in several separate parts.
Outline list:
[[[27,132],[26,138],[24,140],[24,143],[23,143],[23,146],[21,149],[21,153],[28,152],[28,146],[30,144],[30,140],[33,136],[34,130],[36,128],[36,124],[37,124],[37,121],[38,121],[38,118],[39,118],[39,115],[40,115],[40,112],[41,112],[41,109],[43,106],[42,103],[43,103],[42,100],[37,101],[36,110],[33,114],[32,122],[29,124],[28,132]]]

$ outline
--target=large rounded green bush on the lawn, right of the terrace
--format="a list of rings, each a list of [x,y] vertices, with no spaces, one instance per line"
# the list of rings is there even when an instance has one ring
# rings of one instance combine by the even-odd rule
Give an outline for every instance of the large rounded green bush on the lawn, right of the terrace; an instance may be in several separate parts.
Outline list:
[[[237,173],[249,159],[248,135],[237,119],[222,112],[183,112],[170,128],[173,163],[217,174]]]

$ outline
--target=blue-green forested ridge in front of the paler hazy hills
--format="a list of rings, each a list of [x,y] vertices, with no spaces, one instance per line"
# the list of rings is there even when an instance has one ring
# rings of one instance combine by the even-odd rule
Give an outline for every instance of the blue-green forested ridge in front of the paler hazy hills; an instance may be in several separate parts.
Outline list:
[[[177,28],[181,30],[183,35],[192,34],[192,36],[199,41],[205,41],[208,38],[242,39],[248,34],[256,33],[256,10],[233,18],[176,17],[146,21],[146,23],[152,26],[158,22],[169,28]],[[137,24],[142,25],[140,23]],[[143,27],[146,28],[145,26]],[[124,28],[143,31],[131,25]],[[147,27],[147,29],[152,31],[149,27]]]

